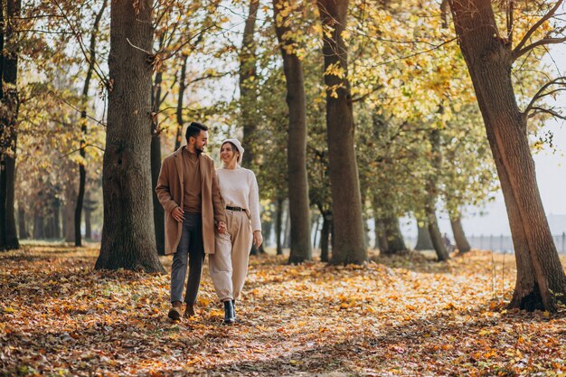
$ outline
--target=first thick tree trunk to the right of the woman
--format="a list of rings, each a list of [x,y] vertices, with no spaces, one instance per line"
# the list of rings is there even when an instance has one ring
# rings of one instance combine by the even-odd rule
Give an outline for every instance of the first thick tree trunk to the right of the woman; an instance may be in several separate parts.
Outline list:
[[[291,240],[288,262],[302,263],[312,259],[307,183],[307,103],[303,65],[297,54],[288,52],[296,41],[291,37],[290,14],[281,13],[284,6],[280,0],[273,0],[275,31],[283,56],[289,109],[287,162]]]

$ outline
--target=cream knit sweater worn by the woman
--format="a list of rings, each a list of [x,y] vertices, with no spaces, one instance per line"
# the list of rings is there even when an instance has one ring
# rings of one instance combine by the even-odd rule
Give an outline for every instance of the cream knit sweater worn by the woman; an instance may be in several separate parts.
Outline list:
[[[259,189],[256,174],[238,166],[235,169],[217,169],[220,194],[227,206],[248,210],[251,231],[261,231],[259,221]]]

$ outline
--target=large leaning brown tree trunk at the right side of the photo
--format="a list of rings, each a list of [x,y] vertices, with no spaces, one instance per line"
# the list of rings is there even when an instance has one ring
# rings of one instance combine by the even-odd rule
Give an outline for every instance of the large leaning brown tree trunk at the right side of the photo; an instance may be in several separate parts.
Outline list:
[[[517,279],[510,306],[555,311],[557,300],[566,302],[566,275],[536,183],[526,114],[514,95],[512,43],[494,34],[489,0],[453,0],[450,5],[511,225]]]

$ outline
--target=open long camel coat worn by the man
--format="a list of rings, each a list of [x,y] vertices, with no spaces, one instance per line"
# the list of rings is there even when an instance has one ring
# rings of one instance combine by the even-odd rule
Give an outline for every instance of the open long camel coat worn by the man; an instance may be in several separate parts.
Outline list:
[[[183,149],[181,146],[161,164],[156,193],[165,210],[165,254],[175,254],[181,240],[183,224],[176,221],[171,212],[175,207],[183,208]],[[206,155],[199,157],[201,190],[203,198],[203,244],[206,254],[214,253],[215,221],[226,221],[224,203],[218,187],[214,161]]]

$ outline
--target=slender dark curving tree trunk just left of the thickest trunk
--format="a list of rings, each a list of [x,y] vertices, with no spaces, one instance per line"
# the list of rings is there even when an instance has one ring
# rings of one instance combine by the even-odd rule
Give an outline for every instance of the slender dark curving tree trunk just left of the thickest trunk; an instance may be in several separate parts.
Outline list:
[[[102,14],[106,9],[108,1],[104,0],[100,6],[99,13],[96,14],[94,18],[94,24],[92,25],[92,31],[90,33],[90,48],[89,48],[89,68],[87,69],[87,77],[84,80],[84,86],[82,87],[82,110],[80,111],[80,157],[81,161],[79,164],[79,194],[77,195],[77,202],[75,207],[75,246],[81,246],[80,237],[80,220],[82,216],[82,204],[84,202],[85,186],[87,184],[87,169],[86,169],[86,159],[87,152],[86,148],[86,136],[88,132],[87,127],[87,104],[89,101],[89,89],[90,80],[92,79],[92,72],[94,71],[94,65],[96,64],[96,44],[97,44],[97,34],[99,33],[100,19]]]

